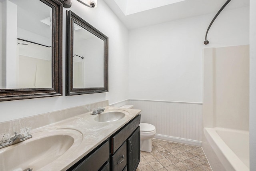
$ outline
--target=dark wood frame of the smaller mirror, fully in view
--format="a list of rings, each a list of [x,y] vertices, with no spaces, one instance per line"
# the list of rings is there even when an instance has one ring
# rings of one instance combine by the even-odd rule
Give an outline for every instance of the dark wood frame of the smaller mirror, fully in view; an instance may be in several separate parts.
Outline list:
[[[72,11],[66,13],[66,95],[79,95],[90,93],[108,92],[108,37],[102,32],[94,28],[88,22],[84,21]],[[76,23],[88,32],[94,34],[104,41],[104,86],[103,87],[86,87],[74,88],[73,87],[73,24]]]

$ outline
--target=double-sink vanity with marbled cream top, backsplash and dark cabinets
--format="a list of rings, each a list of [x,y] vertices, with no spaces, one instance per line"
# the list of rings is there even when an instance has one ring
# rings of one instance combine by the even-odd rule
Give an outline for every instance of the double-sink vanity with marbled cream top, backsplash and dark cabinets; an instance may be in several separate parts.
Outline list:
[[[92,115],[97,106],[106,107]],[[139,113],[138,109],[108,106],[106,100],[0,123],[1,133],[32,127],[32,138],[0,149],[0,170],[136,170]]]

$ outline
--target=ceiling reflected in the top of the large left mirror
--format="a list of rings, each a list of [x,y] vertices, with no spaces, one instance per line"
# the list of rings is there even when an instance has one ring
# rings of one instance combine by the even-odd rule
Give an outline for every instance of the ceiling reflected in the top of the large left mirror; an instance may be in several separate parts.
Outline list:
[[[18,28],[32,32],[44,38],[50,39],[52,37],[52,25],[40,22],[40,20],[48,18],[49,23],[52,18],[52,8],[41,2],[40,0],[9,0],[17,4]],[[19,32],[18,32],[19,34]],[[19,37],[19,35],[18,35]],[[33,40],[30,40],[33,41]],[[51,42],[51,41],[50,41]],[[40,42],[37,42],[40,43]],[[46,44],[51,46],[51,44]]]

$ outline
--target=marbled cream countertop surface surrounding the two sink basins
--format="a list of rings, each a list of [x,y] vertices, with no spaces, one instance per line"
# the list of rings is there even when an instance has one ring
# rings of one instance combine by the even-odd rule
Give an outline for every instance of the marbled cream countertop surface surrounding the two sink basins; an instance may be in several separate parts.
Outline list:
[[[128,123],[131,119],[136,117],[140,113],[139,109],[122,109],[118,107],[105,107],[104,112],[108,111],[121,111],[125,113],[125,116],[118,120],[112,122],[98,122],[94,118],[98,115],[91,115],[91,112],[77,115],[75,117],[70,117],[68,119],[40,127],[32,130],[33,137],[42,137],[44,134],[54,134],[54,133],[64,133],[66,135],[73,135],[76,137],[74,139],[74,144],[72,148],[68,149],[64,154],[54,160],[52,163],[41,167],[40,171],[59,171],[66,170],[77,161],[82,159],[85,155],[90,153],[95,147],[100,145],[105,141],[110,135],[115,133],[118,129]],[[33,138],[24,141],[28,143],[33,141]],[[40,148],[40,147],[39,147]],[[56,153],[56,151],[53,151]],[[57,151],[58,152],[58,151]],[[33,166],[32,166],[33,168]]]

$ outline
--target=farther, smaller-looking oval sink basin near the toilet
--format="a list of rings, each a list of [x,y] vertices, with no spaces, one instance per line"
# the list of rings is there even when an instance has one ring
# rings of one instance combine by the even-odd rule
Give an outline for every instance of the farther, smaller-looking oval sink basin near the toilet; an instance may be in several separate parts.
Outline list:
[[[124,116],[125,113],[120,111],[108,111],[98,114],[94,120],[98,122],[112,122],[122,119]]]

